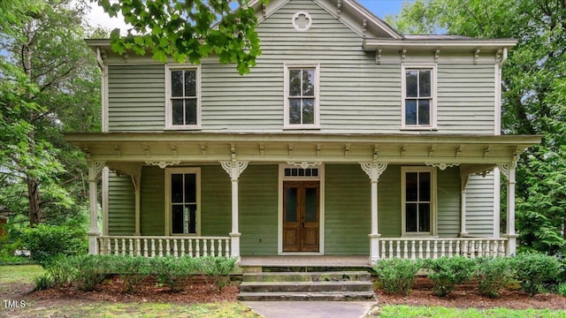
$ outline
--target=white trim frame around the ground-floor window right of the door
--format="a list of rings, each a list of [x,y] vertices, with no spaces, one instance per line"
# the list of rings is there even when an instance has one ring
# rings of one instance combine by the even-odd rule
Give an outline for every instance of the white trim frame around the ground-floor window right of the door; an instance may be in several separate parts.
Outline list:
[[[435,237],[437,236],[437,176],[435,167],[423,167],[423,166],[410,166],[401,167],[401,219],[402,237]],[[407,172],[431,172],[431,231],[430,232],[408,232],[406,229],[406,216],[405,216],[405,190],[406,190],[406,173]]]

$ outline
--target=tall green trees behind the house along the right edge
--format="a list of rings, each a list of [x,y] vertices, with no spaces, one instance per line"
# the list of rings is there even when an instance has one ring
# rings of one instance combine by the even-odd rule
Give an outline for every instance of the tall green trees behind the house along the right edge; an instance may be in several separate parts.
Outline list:
[[[515,38],[502,77],[502,133],[543,134],[517,169],[517,230],[524,246],[566,249],[566,1],[417,0],[396,18],[405,33]]]

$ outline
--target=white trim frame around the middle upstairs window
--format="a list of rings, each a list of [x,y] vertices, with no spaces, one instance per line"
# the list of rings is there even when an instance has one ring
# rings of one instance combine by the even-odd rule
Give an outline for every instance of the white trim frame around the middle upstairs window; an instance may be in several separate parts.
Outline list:
[[[320,128],[320,64],[283,64],[283,128],[284,129],[318,129]],[[315,69],[315,121],[314,124],[289,124],[289,69],[314,68]]]

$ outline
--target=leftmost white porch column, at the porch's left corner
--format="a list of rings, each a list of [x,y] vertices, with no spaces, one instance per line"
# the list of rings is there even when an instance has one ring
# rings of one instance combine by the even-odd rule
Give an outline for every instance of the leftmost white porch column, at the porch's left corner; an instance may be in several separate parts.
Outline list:
[[[88,164],[88,220],[90,223],[88,234],[88,254],[98,254],[97,237],[98,230],[98,174],[103,170],[103,162],[91,162]]]

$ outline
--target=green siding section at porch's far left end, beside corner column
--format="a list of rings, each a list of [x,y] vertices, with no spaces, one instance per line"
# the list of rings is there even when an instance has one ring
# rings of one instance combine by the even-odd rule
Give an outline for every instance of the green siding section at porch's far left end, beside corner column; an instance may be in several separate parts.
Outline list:
[[[117,177],[111,173],[108,186],[108,234],[134,235],[135,198],[132,178]]]

